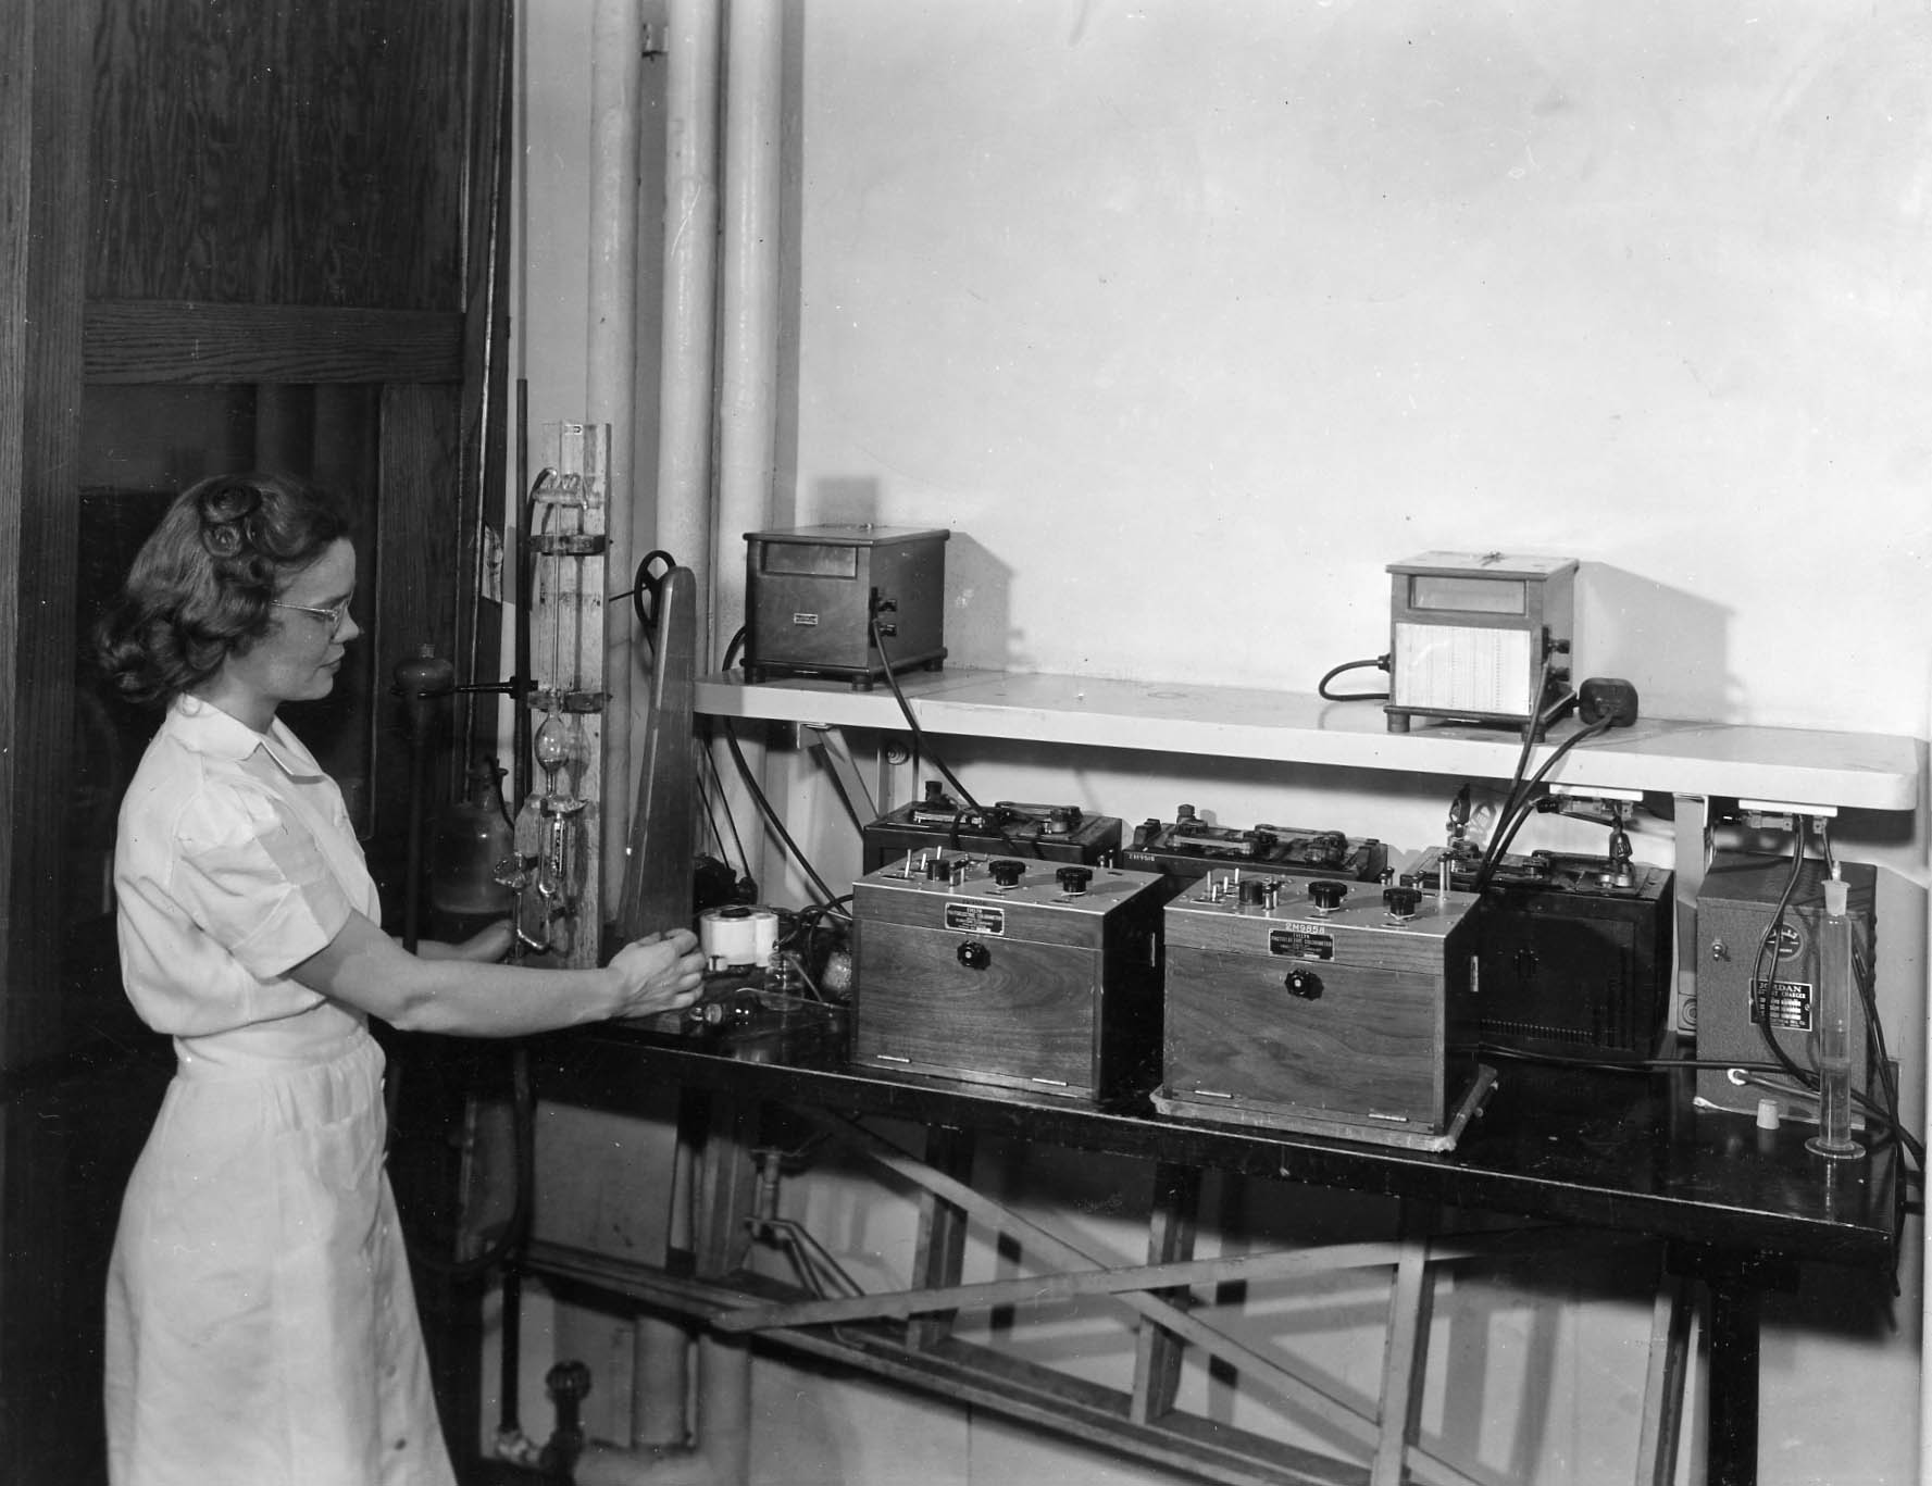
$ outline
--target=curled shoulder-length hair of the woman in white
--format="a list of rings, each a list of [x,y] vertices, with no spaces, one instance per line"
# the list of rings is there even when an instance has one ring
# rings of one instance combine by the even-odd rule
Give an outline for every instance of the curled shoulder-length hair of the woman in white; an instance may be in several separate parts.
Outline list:
[[[110,684],[166,701],[267,634],[270,599],[348,535],[334,497],[270,473],[214,475],[176,497],[95,626]]]

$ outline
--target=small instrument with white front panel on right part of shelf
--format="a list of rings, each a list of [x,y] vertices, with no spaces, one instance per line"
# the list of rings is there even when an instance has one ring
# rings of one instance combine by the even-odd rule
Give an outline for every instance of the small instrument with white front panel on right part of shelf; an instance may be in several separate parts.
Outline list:
[[[1389,576],[1389,732],[1416,717],[1548,725],[1575,705],[1575,558],[1424,553]]]

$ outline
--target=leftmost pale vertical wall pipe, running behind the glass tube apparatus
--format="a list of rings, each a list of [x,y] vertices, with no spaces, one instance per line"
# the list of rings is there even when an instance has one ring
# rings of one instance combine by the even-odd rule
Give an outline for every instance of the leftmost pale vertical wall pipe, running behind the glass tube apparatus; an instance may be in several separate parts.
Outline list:
[[[638,106],[643,91],[641,0],[597,0],[591,15],[591,201],[589,201],[589,315],[585,327],[583,421],[611,425],[611,504],[605,512],[609,553],[605,591],[630,586],[632,406],[636,402],[638,305]],[[603,723],[603,872],[607,885],[624,881],[624,843],[630,835],[630,738],[636,622],[628,603],[605,605]]]

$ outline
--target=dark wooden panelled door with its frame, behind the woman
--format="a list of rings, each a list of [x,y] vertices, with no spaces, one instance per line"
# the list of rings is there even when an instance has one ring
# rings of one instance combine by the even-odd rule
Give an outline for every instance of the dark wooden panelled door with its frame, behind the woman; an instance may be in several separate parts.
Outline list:
[[[85,628],[193,479],[334,485],[367,640],[290,723],[400,906],[394,667],[497,665],[510,35],[510,0],[0,6],[4,1480],[102,1476],[104,1256],[168,1069],[126,1013],[104,881],[153,719],[100,694]],[[473,1440],[473,1403],[446,1424]]]

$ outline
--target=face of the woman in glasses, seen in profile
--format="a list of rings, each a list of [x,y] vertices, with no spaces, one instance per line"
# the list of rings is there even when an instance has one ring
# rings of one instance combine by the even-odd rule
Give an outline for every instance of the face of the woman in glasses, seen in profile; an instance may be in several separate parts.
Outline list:
[[[245,653],[232,651],[203,696],[257,732],[284,701],[328,696],[350,640],[361,634],[348,613],[354,591],[355,549],[340,537],[290,578],[274,597],[269,632]]]

